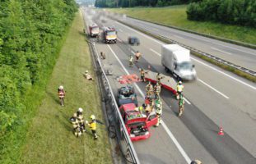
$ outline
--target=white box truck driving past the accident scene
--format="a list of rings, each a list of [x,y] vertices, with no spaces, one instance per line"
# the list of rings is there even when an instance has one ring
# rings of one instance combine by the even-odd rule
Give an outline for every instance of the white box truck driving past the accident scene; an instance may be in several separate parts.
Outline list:
[[[189,49],[178,44],[165,44],[161,49],[161,63],[178,80],[195,80],[197,73],[190,59]]]

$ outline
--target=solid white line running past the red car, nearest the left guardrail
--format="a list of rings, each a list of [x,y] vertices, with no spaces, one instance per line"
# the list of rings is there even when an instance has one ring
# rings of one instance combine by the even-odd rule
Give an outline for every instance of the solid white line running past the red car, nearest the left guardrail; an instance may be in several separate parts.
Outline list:
[[[123,67],[123,71],[125,71],[125,73],[127,75],[129,75],[129,72],[126,70],[126,68],[123,66],[123,63],[119,60],[119,57],[115,54],[115,52],[113,51],[112,48],[110,48],[110,46],[108,45],[110,51],[114,54],[114,57],[117,59],[117,61],[119,62],[119,64]],[[137,88],[138,92],[141,93],[142,98],[145,98],[145,94],[142,92],[142,89],[140,89],[137,84],[134,84],[135,87]],[[175,139],[175,136],[170,132],[169,128],[165,125],[164,121],[161,121],[161,125],[163,125],[166,133],[170,136],[170,139],[172,139],[172,141],[174,142],[175,146],[179,149],[179,152],[182,154],[182,156],[185,158],[187,163],[191,162],[191,159],[189,158],[189,156],[187,155],[187,153],[185,153],[184,149],[180,146],[179,142],[177,141],[177,139]]]

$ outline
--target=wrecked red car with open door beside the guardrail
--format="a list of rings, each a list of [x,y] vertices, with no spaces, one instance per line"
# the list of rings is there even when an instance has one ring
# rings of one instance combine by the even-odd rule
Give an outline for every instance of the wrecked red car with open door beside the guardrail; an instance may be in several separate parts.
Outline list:
[[[123,104],[119,107],[123,121],[132,141],[147,139],[151,136],[149,127],[156,125],[157,115],[152,112],[148,116],[135,110],[134,103]]]

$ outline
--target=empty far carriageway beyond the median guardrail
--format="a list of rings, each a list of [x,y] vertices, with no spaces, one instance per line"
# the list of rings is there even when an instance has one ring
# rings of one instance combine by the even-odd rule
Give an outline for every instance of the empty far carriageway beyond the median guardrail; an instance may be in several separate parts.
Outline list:
[[[163,25],[156,25],[147,21],[140,21],[130,17],[124,19],[126,23],[135,25],[154,34],[160,34],[179,43],[220,57],[228,62],[243,66],[251,71],[256,71],[256,50],[245,48],[232,43],[210,39],[197,34],[191,34],[181,30],[171,29]]]

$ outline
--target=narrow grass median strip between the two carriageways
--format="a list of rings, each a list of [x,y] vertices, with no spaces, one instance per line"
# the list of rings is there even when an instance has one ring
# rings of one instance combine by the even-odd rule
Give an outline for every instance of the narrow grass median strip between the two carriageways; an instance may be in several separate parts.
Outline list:
[[[139,31],[141,31],[141,32],[144,33],[144,34],[147,34],[147,35],[150,35],[150,36],[152,36],[152,37],[154,37],[154,38],[156,38],[156,39],[159,39],[159,40],[161,40],[161,41],[163,41],[163,42],[165,42],[165,43],[172,43],[170,40],[168,40],[168,39],[163,39],[163,38],[157,36],[156,34],[151,34],[150,32],[148,32],[148,31],[146,31],[146,30],[139,29],[139,28],[137,28],[136,26],[129,25],[129,24],[123,22],[123,21],[122,21],[122,23],[123,23],[124,25],[128,25],[128,26],[132,27],[132,28],[135,29],[135,30],[139,30]],[[226,71],[230,71],[230,72],[232,72],[232,73],[235,73],[236,75],[240,75],[241,77],[244,77],[244,78],[247,79],[247,80],[253,81],[254,83],[256,82],[256,76],[254,76],[254,75],[249,75],[249,74],[245,73],[244,71],[240,71],[240,70],[238,70],[238,69],[235,69],[235,68],[232,67],[232,66],[227,66],[227,65],[225,65],[225,64],[222,64],[221,62],[217,62],[216,60],[213,60],[213,59],[210,58],[210,57],[203,56],[203,55],[199,54],[198,52],[191,52],[191,53],[192,53],[194,56],[200,57],[200,58],[202,58],[203,60],[205,60],[205,61],[207,61],[207,62],[210,62],[210,63],[212,63],[212,64],[214,64],[214,65],[216,65],[216,66],[220,66],[221,68],[225,69]]]

